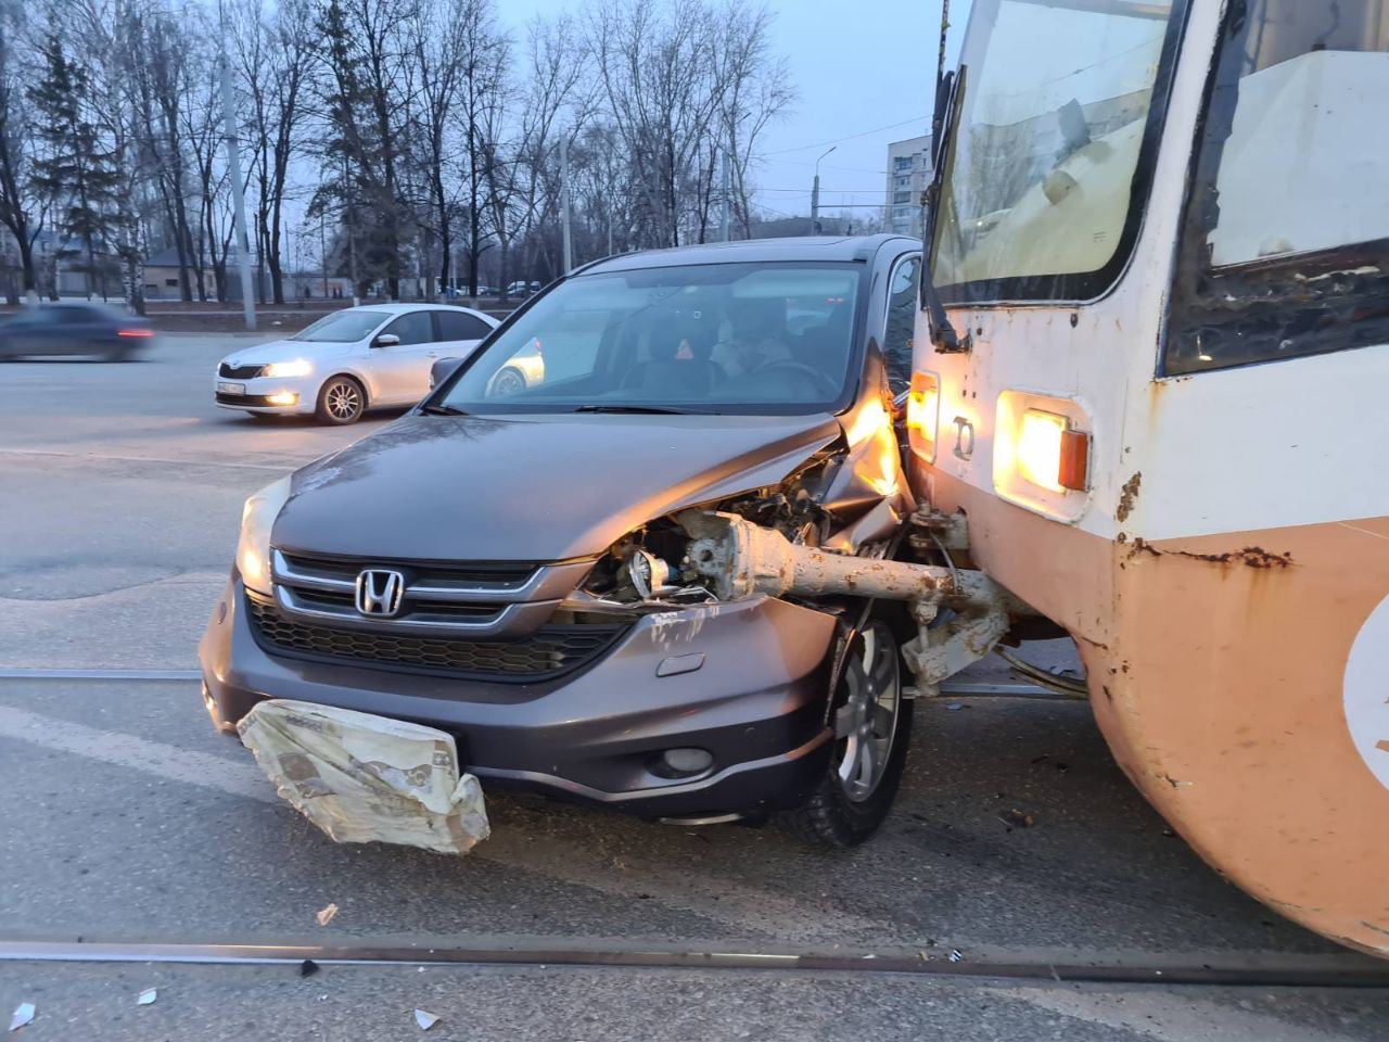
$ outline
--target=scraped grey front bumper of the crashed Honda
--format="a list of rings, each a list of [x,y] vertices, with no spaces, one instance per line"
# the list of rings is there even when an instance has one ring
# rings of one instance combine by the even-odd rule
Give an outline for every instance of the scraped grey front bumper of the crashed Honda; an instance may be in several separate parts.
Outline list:
[[[646,615],[596,663],[544,684],[272,654],[244,604],[233,577],[199,646],[208,711],[222,729],[267,697],[408,720],[454,735],[465,770],[492,784],[647,817],[793,807],[828,768],[836,621],[782,600]],[[676,656],[703,664],[658,675]],[[713,766],[689,778],[653,772],[672,747],[707,749]]]

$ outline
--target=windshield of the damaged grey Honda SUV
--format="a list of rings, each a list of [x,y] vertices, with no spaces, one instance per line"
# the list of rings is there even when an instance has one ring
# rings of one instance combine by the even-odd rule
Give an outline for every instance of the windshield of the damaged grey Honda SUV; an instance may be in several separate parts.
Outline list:
[[[465,413],[825,411],[853,360],[861,264],[707,264],[579,275],[447,386]]]

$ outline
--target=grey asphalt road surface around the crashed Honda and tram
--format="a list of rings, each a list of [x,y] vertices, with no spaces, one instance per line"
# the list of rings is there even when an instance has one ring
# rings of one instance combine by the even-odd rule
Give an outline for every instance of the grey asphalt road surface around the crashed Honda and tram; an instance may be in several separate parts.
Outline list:
[[[239,343],[244,343],[240,340]],[[188,670],[240,503],[368,433],[211,403],[229,338],[126,365],[0,365],[0,670]],[[995,670],[995,675],[997,671]],[[489,796],[467,859],[336,846],[276,802],[196,684],[0,679],[0,942],[222,942],[917,954],[965,963],[1346,963],[1221,881],[1076,703],[918,707],[871,843],[676,829]],[[1031,828],[1006,818],[1035,817]],[[314,913],[340,909],[326,927]],[[1389,993],[557,966],[0,961],[24,1036],[1382,1039]],[[1353,960],[1351,960],[1353,963]],[[135,995],[157,986],[158,1000]]]

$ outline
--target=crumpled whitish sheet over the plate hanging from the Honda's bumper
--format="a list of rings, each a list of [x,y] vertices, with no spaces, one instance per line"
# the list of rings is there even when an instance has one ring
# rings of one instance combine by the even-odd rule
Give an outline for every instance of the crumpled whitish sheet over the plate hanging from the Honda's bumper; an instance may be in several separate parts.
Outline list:
[[[339,843],[461,854],[488,838],[482,786],[443,731],[286,699],[236,729],[279,795]]]

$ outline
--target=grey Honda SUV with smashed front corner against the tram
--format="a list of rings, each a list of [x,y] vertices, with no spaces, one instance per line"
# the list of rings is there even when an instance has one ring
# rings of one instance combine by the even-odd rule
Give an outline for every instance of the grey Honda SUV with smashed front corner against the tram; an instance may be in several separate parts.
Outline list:
[[[732,592],[697,534],[893,552],[885,352],[917,301],[890,288],[920,253],[754,240],[550,286],[411,414],[247,500],[199,649],[214,724],[335,706],[446,731],[485,786],[865,839],[907,756],[914,624]]]

